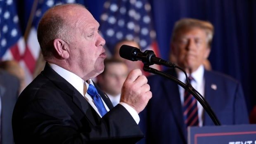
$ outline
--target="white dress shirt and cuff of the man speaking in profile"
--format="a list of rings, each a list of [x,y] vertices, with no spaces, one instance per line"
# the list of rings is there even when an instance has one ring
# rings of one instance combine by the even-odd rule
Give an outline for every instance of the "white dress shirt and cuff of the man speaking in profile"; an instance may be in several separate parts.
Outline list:
[[[67,71],[66,69],[57,66],[56,64],[52,64],[49,63],[51,68],[58,73],[62,78],[64,78],[67,82],[69,82],[73,87],[76,88],[76,90],[78,90],[78,92],[80,92],[83,97],[85,97],[85,99],[88,101],[88,103],[92,106],[92,108],[98,113],[98,115],[101,117],[100,112],[98,111],[97,107],[95,106],[95,104],[92,101],[92,97],[90,97],[90,95],[86,92],[86,94],[84,95],[83,89],[84,89],[84,84],[86,84],[86,87],[88,89],[89,84],[92,84],[92,80],[89,79],[88,83],[85,82],[82,78],[80,78],[79,76],[77,76],[74,73],[71,73],[70,71]],[[102,98],[101,98],[102,99]],[[102,99],[102,102],[106,108],[107,111],[109,111],[109,108],[107,106],[107,104],[104,102],[104,100]],[[130,115],[133,117],[133,119],[135,120],[135,122],[138,124],[140,122],[140,117],[137,113],[137,111],[135,111],[135,109],[133,109],[131,106],[129,106],[126,103],[120,102],[119,104],[121,104],[123,107],[126,108],[126,110],[130,113]]]

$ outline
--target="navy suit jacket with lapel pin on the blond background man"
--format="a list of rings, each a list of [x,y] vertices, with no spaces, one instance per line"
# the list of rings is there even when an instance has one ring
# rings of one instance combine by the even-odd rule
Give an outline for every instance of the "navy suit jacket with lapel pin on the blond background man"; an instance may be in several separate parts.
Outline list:
[[[166,71],[175,76],[173,70]],[[223,74],[204,71],[205,99],[216,113],[222,125],[249,123],[241,85]],[[145,139],[139,144],[186,144],[187,130],[183,120],[178,85],[161,76],[148,78],[152,99],[140,113],[140,127]],[[214,125],[204,111],[203,125]]]

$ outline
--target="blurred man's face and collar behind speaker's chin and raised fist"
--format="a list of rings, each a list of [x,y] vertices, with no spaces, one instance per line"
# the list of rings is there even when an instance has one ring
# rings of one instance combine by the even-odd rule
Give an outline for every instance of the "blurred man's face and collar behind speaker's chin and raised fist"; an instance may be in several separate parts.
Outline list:
[[[113,106],[119,104],[123,82],[128,75],[126,64],[119,59],[105,59],[104,71],[97,76],[97,82],[111,100]]]

